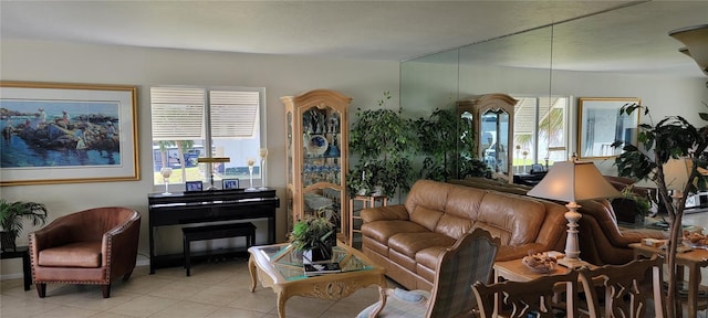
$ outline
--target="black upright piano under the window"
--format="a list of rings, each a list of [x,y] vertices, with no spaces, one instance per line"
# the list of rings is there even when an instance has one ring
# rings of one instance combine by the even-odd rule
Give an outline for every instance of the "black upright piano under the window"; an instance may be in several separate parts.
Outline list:
[[[157,226],[218,221],[268,219],[268,244],[275,243],[275,209],[280,200],[275,190],[257,191],[208,190],[152,193],[149,208],[150,274],[155,268],[175,266],[175,255],[155,255],[154,235]]]

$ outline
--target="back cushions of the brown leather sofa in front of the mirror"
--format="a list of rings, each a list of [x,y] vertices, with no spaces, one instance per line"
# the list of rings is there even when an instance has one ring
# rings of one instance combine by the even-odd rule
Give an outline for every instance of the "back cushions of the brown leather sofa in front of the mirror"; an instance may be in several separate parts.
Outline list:
[[[430,180],[417,181],[406,200],[413,222],[452,239],[475,227],[500,237],[502,245],[535,242],[545,206],[530,198]]]

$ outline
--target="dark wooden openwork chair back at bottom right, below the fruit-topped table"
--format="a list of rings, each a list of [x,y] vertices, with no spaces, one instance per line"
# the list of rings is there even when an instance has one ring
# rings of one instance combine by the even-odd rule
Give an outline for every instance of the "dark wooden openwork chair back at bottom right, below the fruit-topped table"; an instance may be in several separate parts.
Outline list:
[[[666,317],[663,286],[663,259],[635,259],[624,265],[581,268],[580,279],[587,298],[590,317],[649,317],[647,299],[654,299],[654,315]],[[597,288],[605,290],[604,310],[597,298]]]

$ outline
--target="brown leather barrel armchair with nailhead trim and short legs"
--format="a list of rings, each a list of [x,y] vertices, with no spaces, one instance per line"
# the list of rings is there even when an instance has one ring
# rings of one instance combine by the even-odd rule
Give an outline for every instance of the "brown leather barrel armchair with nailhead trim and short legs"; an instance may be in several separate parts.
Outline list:
[[[48,283],[102,285],[127,280],[135,268],[140,214],[127,208],[96,208],[54,220],[30,234],[32,279],[40,298]]]

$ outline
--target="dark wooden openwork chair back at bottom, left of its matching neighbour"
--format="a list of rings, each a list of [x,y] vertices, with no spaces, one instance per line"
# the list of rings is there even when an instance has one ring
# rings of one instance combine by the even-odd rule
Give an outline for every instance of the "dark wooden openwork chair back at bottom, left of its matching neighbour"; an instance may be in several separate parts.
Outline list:
[[[525,318],[531,315],[531,317],[552,318],[556,317],[554,308],[564,303],[564,317],[579,317],[577,275],[576,271],[570,271],[566,274],[540,276],[529,282],[506,280],[491,285],[477,282],[472,289],[479,305],[479,316],[481,318]],[[559,299],[563,293],[565,301]],[[494,315],[497,299],[499,299],[499,307],[504,310],[510,308],[511,311],[506,312],[508,311],[506,310],[503,315]]]

